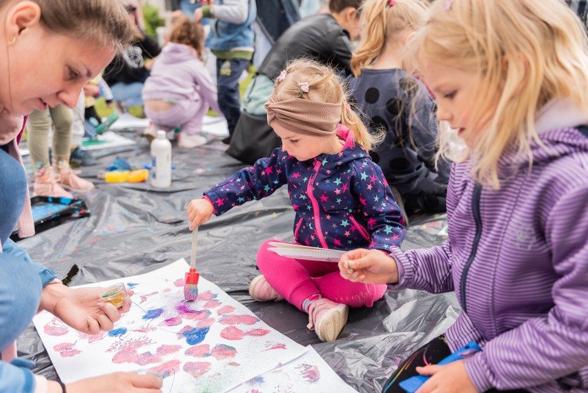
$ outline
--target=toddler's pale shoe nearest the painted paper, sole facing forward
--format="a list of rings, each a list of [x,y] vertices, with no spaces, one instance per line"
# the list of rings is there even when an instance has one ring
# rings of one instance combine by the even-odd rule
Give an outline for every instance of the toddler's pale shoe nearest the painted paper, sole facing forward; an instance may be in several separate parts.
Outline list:
[[[320,341],[335,341],[347,323],[348,315],[348,305],[320,298],[308,307],[306,327],[314,330]]]

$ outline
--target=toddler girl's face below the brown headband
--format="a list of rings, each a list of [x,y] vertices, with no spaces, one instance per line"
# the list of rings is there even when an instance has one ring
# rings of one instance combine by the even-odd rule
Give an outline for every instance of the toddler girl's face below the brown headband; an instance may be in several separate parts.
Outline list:
[[[311,160],[321,154],[336,154],[343,148],[342,140],[335,134],[324,137],[293,133],[272,122],[273,131],[282,140],[282,150],[298,161]]]

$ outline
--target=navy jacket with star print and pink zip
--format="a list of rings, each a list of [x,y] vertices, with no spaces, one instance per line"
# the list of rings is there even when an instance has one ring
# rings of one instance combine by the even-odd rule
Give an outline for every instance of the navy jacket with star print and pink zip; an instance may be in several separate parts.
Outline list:
[[[380,166],[353,144],[353,132],[339,126],[346,142],[334,155],[300,162],[282,148],[257,160],[204,193],[215,215],[271,195],[284,184],[296,213],[297,242],[324,249],[400,246],[406,230]]]

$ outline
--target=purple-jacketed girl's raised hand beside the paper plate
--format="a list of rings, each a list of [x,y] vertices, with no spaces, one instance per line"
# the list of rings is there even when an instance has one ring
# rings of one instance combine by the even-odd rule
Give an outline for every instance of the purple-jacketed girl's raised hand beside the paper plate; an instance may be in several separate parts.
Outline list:
[[[355,249],[343,254],[339,260],[341,276],[353,282],[366,284],[395,284],[398,270],[393,258],[382,251]]]

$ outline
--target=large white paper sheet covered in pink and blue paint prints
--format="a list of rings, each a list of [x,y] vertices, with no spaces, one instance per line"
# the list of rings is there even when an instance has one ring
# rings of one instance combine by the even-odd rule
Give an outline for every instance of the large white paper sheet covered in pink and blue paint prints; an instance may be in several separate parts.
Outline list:
[[[181,259],[95,284],[124,282],[135,291],[135,304],[115,329],[97,336],[76,332],[48,312],[35,316],[61,380],[149,369],[166,376],[163,392],[226,392],[306,352],[202,277],[198,300],[186,302],[186,271]]]

